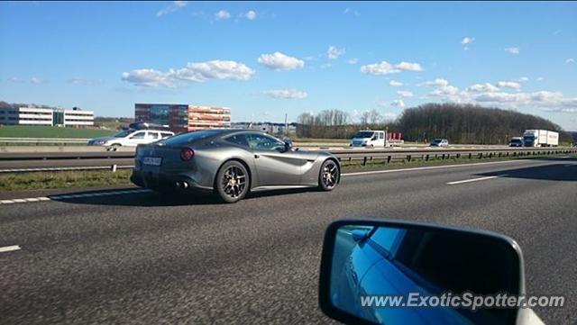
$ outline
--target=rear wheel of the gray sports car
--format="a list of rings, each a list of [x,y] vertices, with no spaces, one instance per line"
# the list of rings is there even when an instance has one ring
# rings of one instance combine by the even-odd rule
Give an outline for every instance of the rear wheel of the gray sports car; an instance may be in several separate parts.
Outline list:
[[[224,163],[215,180],[216,193],[225,203],[235,203],[243,199],[249,191],[250,176],[238,161]]]

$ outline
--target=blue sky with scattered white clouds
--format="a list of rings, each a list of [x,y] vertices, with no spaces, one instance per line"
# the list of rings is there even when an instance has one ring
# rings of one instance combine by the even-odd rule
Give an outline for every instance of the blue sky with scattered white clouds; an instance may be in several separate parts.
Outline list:
[[[427,102],[533,113],[577,131],[577,3],[0,3],[0,100],[233,121]]]

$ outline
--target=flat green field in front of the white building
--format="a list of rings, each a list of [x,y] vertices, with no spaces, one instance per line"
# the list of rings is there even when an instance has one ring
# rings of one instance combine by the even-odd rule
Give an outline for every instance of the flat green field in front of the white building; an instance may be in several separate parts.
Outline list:
[[[118,131],[98,129],[58,128],[53,126],[2,125],[0,138],[68,138],[89,139],[105,137]]]

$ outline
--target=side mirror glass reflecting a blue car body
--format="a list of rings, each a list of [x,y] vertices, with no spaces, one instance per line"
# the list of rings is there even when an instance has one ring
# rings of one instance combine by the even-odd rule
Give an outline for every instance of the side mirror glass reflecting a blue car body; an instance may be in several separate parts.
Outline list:
[[[516,309],[473,311],[448,301],[466,293],[471,299],[517,295],[519,259],[507,240],[486,234],[343,225],[334,235],[327,299],[350,316],[381,324],[514,324]]]

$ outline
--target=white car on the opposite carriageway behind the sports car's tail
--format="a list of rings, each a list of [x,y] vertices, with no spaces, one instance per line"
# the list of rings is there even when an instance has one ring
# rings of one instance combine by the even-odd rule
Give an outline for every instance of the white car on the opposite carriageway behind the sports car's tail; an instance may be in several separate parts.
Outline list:
[[[174,132],[159,130],[124,130],[112,137],[102,137],[88,140],[88,146],[105,147],[136,147],[139,144],[147,144],[158,140],[172,137]]]

